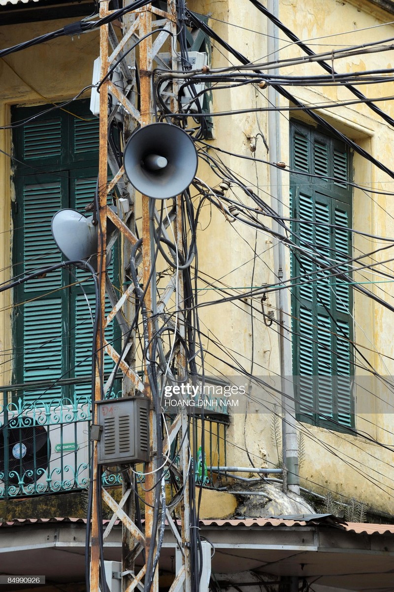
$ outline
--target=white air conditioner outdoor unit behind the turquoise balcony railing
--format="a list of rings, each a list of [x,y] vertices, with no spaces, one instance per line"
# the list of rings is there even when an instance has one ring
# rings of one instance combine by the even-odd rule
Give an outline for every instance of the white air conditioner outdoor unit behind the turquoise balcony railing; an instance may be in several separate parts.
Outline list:
[[[0,499],[89,484],[89,405],[0,413]]]

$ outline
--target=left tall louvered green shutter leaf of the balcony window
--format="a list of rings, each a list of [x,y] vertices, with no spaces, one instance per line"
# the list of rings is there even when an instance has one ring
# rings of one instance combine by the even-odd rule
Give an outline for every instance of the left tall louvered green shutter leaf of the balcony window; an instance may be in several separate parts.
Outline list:
[[[29,148],[31,153],[31,149]],[[62,208],[64,183],[49,175],[27,175],[17,187],[22,200],[18,201],[17,274],[28,275],[40,268],[59,263],[62,255],[51,235],[51,218]],[[18,192],[17,192],[18,193]],[[59,318],[64,316],[62,272],[59,270],[43,278],[22,284],[17,289],[15,316],[16,342],[14,368],[17,382],[40,382],[43,377],[62,375],[63,330]],[[37,394],[29,391],[27,398]],[[62,397],[57,386],[51,397]]]

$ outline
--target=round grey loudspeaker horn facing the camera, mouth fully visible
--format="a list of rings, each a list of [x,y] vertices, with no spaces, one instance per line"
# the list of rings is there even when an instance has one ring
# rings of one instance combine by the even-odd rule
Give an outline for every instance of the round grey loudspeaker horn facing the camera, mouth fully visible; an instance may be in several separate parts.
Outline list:
[[[140,127],[128,140],[124,169],[131,185],[147,197],[175,197],[193,181],[198,156],[193,140],[180,127],[152,123]]]

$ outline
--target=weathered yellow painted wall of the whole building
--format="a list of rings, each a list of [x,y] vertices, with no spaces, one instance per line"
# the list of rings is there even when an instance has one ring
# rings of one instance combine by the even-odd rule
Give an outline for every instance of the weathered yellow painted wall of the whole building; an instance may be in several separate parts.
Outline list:
[[[212,14],[209,24],[215,31],[241,53],[252,60],[264,60],[267,53],[264,34],[266,19],[251,4],[244,0],[240,9],[239,2],[190,2],[189,8],[203,14]],[[300,2],[283,0],[280,2],[280,19],[303,40],[311,39],[315,52],[331,51],[337,47],[350,46],[394,36],[393,25],[384,25],[385,20],[393,20],[392,15],[385,15],[369,2],[337,2],[335,0],[306,0]],[[222,22],[225,21],[225,22]],[[230,24],[227,24],[230,23]],[[8,47],[22,39],[32,38],[49,30],[55,30],[64,22],[29,24],[23,27],[12,25],[0,27],[1,47]],[[242,29],[235,27],[240,25]],[[377,26],[379,25],[379,27]],[[383,26],[381,26],[383,25]],[[371,28],[376,27],[376,28]],[[360,31],[365,29],[365,31]],[[320,38],[322,37],[322,38]],[[289,44],[280,33],[280,58],[290,58],[302,53],[293,44]],[[70,37],[51,41],[49,44],[34,47],[23,52],[11,54],[0,60],[0,121],[9,123],[9,107],[12,104],[36,104],[72,98],[82,88],[91,83],[93,59],[98,55],[97,34],[85,34],[79,39]],[[212,44],[212,67],[227,66],[228,60],[235,63],[232,56],[217,43]],[[389,52],[354,56],[351,60],[338,60],[338,71],[357,71],[362,69],[381,69],[391,67],[392,55]],[[280,73],[311,75],[322,73],[317,65],[292,66]],[[361,87],[371,97],[383,96],[392,92],[385,85]],[[344,101],[353,98],[347,89],[297,87],[293,94],[301,101],[321,102],[327,99]],[[218,111],[241,110],[248,107],[267,105],[266,91],[249,85],[231,91],[217,91],[213,94],[213,109]],[[281,104],[288,107],[281,99]],[[382,110],[394,117],[392,102],[379,103]],[[364,105],[339,107],[335,110],[322,110],[321,114],[341,131],[356,140],[367,151],[392,166],[394,162],[394,131],[379,120]],[[283,112],[281,121],[280,160],[289,162],[289,113]],[[301,114],[298,117],[305,117]],[[260,135],[259,135],[260,134]],[[250,145],[256,142],[257,159],[270,160],[261,134],[267,138],[267,117],[264,112],[231,115],[214,118],[214,140],[212,146],[221,147],[228,152],[251,157]],[[0,236],[2,241],[0,269],[1,281],[7,279],[10,263],[11,219],[10,201],[12,198],[9,184],[9,151],[11,149],[9,131],[0,132],[0,149],[6,154],[0,155]],[[212,150],[210,153],[216,155]],[[220,155],[222,161],[242,177],[246,185],[258,191],[261,197],[270,202],[269,175],[270,167],[253,160],[241,160],[227,154]],[[212,173],[206,163],[201,163],[199,178],[215,188],[220,179]],[[373,184],[380,191],[390,190],[392,180],[380,170],[354,155],[354,178],[357,184]],[[288,178],[283,175],[283,196],[285,215],[287,213]],[[234,195],[247,203],[243,191],[232,187]],[[231,195],[228,193],[228,195]],[[367,233],[394,236],[394,208],[392,197],[375,195],[371,198],[361,189],[354,191],[354,227]],[[197,198],[196,198],[197,201]],[[387,213],[388,212],[388,213]],[[269,220],[264,220],[269,224]],[[242,226],[240,223],[226,220],[224,215],[208,202],[204,205],[198,236],[199,268],[205,282],[199,281],[199,302],[208,303],[219,300],[221,292],[207,285],[212,278],[220,278],[222,287],[230,294],[236,294],[250,286],[261,286],[274,282],[273,239],[269,234]],[[241,236],[240,236],[241,235]],[[256,249],[256,265],[253,263],[253,249]],[[369,239],[356,237],[355,249],[368,252],[376,248],[376,243]],[[390,252],[378,253],[376,259],[385,260]],[[289,263],[289,262],[288,262]],[[388,264],[392,269],[392,265]],[[391,265],[391,267],[390,267]],[[287,269],[287,272],[289,270]],[[376,279],[376,278],[374,278]],[[203,289],[204,288],[204,289]],[[393,301],[392,284],[382,287],[372,286],[377,295]],[[8,350],[11,346],[9,324],[9,298],[11,294],[0,295],[1,347]],[[393,301],[394,302],[394,301]],[[253,323],[251,305],[254,307]],[[275,310],[275,298],[270,297],[267,309]],[[206,374],[238,374],[234,367],[239,363],[247,372],[255,375],[273,376],[279,374],[279,346],[277,332],[267,329],[260,313],[260,298],[237,301],[236,304],[215,304],[200,309],[201,330],[204,345],[209,347],[211,355],[205,359]],[[392,346],[393,315],[371,300],[359,294],[355,295],[355,339],[364,355],[367,356],[377,372],[383,375],[394,374],[394,350]],[[228,349],[224,353],[222,346]],[[384,354],[385,356],[383,356]],[[219,359],[218,359],[219,358]],[[225,358],[229,365],[221,361]],[[253,359],[253,363],[252,363]],[[361,360],[360,360],[361,363]],[[364,362],[362,362],[364,364]],[[7,366],[5,366],[7,369]],[[359,374],[367,374],[362,368]],[[2,383],[7,382],[3,374]],[[246,380],[247,385],[247,380]],[[379,386],[379,385],[378,385]],[[228,428],[227,463],[229,465],[250,465],[250,459],[256,466],[276,464],[277,455],[271,438],[272,401],[266,403],[266,395],[259,392],[249,401],[242,401],[243,406],[232,416]],[[382,399],[392,397],[389,391],[382,392]],[[393,416],[385,413],[385,406],[379,398],[369,397],[367,393],[357,392],[356,426],[361,432],[386,446],[393,443]],[[370,410],[370,413],[366,413]],[[356,497],[377,510],[392,513],[392,494],[394,481],[391,477],[392,453],[361,437],[354,438],[344,434],[332,433],[309,425],[299,426],[303,432],[305,460],[301,477],[302,484],[325,495],[328,490],[347,497]],[[247,452],[246,452],[247,451]]]

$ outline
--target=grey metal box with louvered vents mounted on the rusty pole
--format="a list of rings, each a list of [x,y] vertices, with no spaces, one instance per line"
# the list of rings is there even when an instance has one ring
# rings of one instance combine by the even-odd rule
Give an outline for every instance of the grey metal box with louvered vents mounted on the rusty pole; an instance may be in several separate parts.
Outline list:
[[[149,461],[149,400],[125,397],[98,401],[96,405],[96,422],[102,427],[97,445],[98,464]]]

